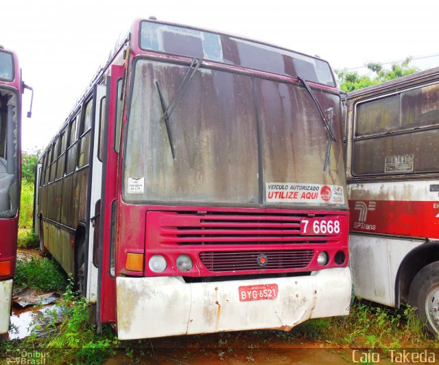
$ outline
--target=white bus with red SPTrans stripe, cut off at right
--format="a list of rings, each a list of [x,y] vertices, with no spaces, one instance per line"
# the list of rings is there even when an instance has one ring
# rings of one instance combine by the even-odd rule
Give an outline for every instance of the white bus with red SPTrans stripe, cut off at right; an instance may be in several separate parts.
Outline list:
[[[349,93],[354,293],[439,329],[439,68]]]

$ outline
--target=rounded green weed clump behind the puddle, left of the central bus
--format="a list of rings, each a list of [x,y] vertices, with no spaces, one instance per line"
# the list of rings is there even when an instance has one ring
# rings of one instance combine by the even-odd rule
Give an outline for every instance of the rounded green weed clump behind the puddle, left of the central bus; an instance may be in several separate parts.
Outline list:
[[[31,261],[16,261],[14,285],[51,292],[64,290],[67,280],[54,259],[34,257]]]

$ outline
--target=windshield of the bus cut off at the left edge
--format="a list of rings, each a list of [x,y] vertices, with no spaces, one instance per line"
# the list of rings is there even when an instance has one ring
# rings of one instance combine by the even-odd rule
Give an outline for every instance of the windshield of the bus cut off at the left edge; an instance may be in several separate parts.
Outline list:
[[[17,97],[0,89],[0,217],[14,217],[17,191]]]

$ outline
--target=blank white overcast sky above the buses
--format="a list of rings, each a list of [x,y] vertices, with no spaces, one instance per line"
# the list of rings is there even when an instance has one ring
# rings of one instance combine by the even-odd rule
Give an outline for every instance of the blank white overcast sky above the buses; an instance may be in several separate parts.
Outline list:
[[[329,61],[333,69],[438,51],[438,1],[2,0],[0,45],[19,55],[34,87],[23,106],[23,150],[45,146],[135,18],[264,40]]]

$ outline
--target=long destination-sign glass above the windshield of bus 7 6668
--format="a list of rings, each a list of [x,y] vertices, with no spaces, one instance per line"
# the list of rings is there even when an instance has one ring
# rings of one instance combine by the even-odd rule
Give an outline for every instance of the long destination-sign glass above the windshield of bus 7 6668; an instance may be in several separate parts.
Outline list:
[[[140,47],[157,51],[256,69],[310,82],[335,86],[329,64],[320,60],[225,34],[143,21]]]

